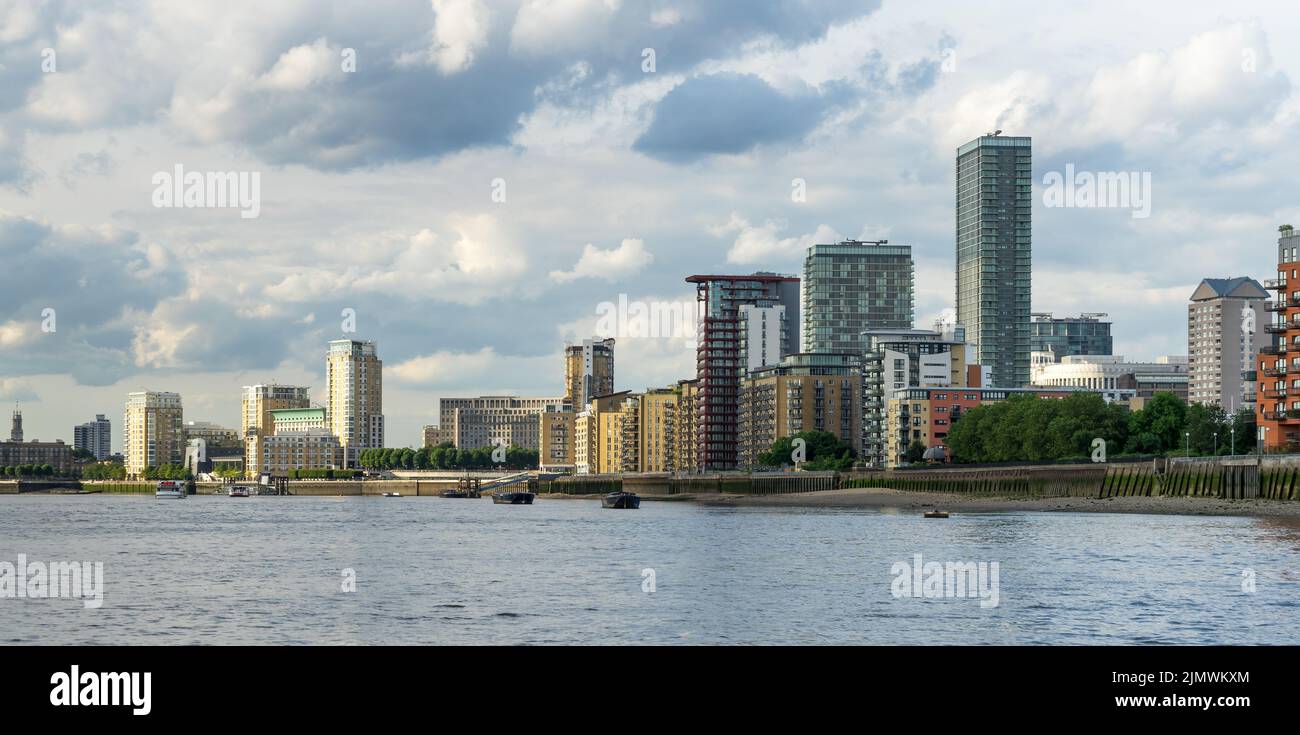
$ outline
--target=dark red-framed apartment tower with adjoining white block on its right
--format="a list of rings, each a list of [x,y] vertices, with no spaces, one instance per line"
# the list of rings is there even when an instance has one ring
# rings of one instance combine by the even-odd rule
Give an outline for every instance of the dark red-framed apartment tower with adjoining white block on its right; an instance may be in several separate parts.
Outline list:
[[[736,468],[736,416],[745,375],[798,351],[800,280],[775,273],[690,276],[696,285],[697,462]],[[742,310],[741,307],[758,307]],[[776,359],[772,359],[775,355]]]

